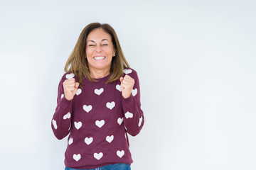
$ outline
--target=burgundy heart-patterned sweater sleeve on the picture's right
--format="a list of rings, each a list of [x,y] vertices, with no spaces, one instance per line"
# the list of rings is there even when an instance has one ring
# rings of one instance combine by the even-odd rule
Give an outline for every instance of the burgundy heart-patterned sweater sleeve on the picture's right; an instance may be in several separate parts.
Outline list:
[[[129,135],[136,136],[144,125],[144,113],[140,102],[139,78],[134,70],[131,76],[135,83],[132,94],[129,98],[122,98],[122,107],[124,111],[124,126]]]

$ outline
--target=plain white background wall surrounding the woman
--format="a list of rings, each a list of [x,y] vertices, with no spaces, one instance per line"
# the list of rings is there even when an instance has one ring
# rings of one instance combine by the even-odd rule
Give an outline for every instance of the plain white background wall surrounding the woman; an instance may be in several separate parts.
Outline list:
[[[82,29],[110,23],[139,74],[132,169],[256,169],[256,2],[0,1],[1,169],[64,169],[50,128]]]

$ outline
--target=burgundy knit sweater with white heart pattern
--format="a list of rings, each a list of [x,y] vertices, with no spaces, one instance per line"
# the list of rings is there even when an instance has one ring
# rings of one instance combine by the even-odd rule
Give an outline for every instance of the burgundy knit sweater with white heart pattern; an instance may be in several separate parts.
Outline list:
[[[135,81],[132,94],[123,98],[119,80],[105,84],[111,74],[97,82],[82,80],[74,98],[64,97],[63,81],[78,78],[65,73],[58,86],[57,106],[51,127],[58,140],[68,136],[65,166],[96,169],[108,164],[132,164],[129,135],[139,134],[144,125],[139,78],[134,69],[124,69]]]

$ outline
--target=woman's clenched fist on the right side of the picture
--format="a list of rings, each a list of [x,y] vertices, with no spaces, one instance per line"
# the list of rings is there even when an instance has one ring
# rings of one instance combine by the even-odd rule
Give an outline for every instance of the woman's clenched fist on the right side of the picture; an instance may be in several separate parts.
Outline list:
[[[132,88],[134,86],[134,79],[132,77],[129,77],[128,75],[125,75],[124,77],[120,78],[121,81],[121,91],[122,91],[122,96],[124,98],[129,98],[132,94]]]

